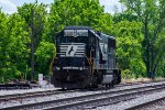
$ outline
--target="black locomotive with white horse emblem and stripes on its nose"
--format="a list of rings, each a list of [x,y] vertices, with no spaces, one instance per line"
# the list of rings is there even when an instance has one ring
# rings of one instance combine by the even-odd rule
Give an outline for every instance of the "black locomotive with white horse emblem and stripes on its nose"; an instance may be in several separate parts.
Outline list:
[[[55,87],[109,87],[121,81],[113,36],[88,26],[67,26],[56,36],[56,52],[51,79]]]

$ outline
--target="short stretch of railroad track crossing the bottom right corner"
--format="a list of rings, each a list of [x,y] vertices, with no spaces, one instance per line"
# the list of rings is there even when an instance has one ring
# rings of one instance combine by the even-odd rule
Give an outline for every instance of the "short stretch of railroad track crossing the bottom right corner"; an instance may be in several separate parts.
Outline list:
[[[165,109],[165,97],[130,107],[127,110],[155,110],[155,109],[156,110]]]

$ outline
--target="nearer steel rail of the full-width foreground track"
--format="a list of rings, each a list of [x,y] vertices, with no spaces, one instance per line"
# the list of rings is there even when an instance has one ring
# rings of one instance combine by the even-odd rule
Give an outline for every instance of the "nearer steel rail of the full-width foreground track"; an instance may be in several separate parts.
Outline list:
[[[132,91],[128,94],[103,97],[99,99],[89,99],[89,100],[73,102],[68,105],[54,106],[54,107],[45,108],[43,110],[89,109],[94,107],[97,108],[105,105],[113,105],[124,100],[131,100],[138,98],[140,95],[147,95],[148,92],[160,91],[164,89],[165,86],[160,88],[154,88],[154,89],[142,90],[142,91]]]

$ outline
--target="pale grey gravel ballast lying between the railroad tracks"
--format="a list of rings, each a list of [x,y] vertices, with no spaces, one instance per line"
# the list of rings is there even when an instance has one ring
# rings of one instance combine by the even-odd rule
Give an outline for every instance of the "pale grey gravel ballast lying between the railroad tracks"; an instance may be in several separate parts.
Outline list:
[[[43,96],[43,97],[37,97],[37,98],[26,98],[26,99],[21,99],[21,100],[8,100],[6,102],[0,102],[0,108],[6,108],[6,107],[12,107],[12,106],[19,106],[19,105],[26,105],[26,103],[34,103],[34,102],[42,102],[42,101],[48,101],[48,100],[57,100],[57,99],[64,99],[64,98],[70,98],[70,97],[78,97],[78,96],[86,96],[86,95],[92,95],[92,94],[99,94],[99,92],[105,92],[105,91],[117,91],[117,90],[122,90],[122,89],[129,89],[129,88],[138,88],[138,87],[144,87],[144,86],[150,86],[150,85],[158,85],[158,84],[165,84],[165,82],[153,82],[153,84],[141,84],[141,85],[133,85],[133,86],[123,86],[123,87],[116,87],[112,89],[108,89],[108,90],[97,90],[97,91],[87,91],[87,90],[78,90],[78,91],[74,91],[74,92],[67,92],[67,94],[58,94],[58,95],[52,95],[52,96]],[[59,88],[35,88],[35,89],[25,89],[25,90],[0,90],[0,96],[6,96],[6,95],[14,95],[14,94],[25,94],[25,92],[35,92],[35,91],[44,91],[44,90],[53,90],[53,89],[59,89]],[[156,98],[158,98],[157,96],[165,96],[165,91],[164,92],[160,92],[160,94],[155,94]],[[153,95],[153,96],[155,96]],[[146,96],[147,97],[147,96]],[[151,96],[150,96],[151,97]],[[145,98],[144,96],[144,99]],[[143,97],[141,98],[141,100],[144,100]],[[133,101],[127,101],[128,105],[132,105],[131,102]],[[121,105],[122,103],[122,105]],[[128,105],[125,102],[121,102],[120,107],[128,107]],[[125,105],[123,105],[125,103]],[[134,103],[138,103],[136,101]],[[111,108],[117,108],[118,106],[110,106],[109,107],[101,107],[101,108],[97,108],[97,109],[111,109]],[[122,107],[122,108],[123,108]],[[121,108],[117,108],[118,110],[122,110]],[[113,109],[111,109],[113,110]]]

